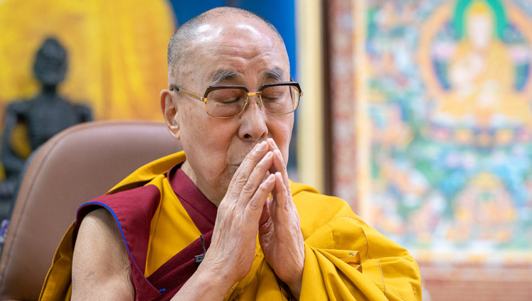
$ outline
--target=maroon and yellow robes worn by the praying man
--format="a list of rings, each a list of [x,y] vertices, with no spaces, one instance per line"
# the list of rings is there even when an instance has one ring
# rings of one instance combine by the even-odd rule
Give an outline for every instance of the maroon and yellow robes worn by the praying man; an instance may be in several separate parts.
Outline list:
[[[55,253],[40,300],[70,300],[72,254],[79,224],[96,208],[109,211],[131,266],[135,300],[170,300],[209,248],[216,207],[179,169],[183,152],[139,168],[107,195],[79,207]],[[305,241],[300,300],[421,300],[419,268],[408,251],[367,226],[350,206],[290,182]],[[200,263],[201,264],[201,263]],[[213,279],[216,281],[216,279]],[[286,285],[257,240],[250,272],[226,300],[288,300]]]

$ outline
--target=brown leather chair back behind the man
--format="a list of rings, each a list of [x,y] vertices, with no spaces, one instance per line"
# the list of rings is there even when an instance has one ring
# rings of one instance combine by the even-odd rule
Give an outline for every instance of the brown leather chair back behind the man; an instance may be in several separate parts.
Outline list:
[[[83,202],[141,165],[181,151],[162,123],[95,121],[68,128],[33,156],[0,261],[0,300],[38,300],[55,249]]]

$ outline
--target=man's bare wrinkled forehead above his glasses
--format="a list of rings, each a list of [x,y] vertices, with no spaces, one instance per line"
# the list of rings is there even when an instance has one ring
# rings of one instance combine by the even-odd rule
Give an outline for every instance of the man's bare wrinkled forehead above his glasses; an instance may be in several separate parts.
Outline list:
[[[191,41],[190,75],[216,84],[253,73],[264,79],[287,80],[289,61],[282,39],[253,18],[207,21]]]

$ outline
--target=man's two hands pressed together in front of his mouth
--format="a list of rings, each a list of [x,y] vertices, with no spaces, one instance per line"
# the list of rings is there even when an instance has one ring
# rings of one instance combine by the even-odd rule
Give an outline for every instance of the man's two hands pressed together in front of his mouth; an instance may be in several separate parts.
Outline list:
[[[233,175],[199,270],[224,275],[223,283],[231,288],[251,268],[257,233],[265,260],[299,297],[304,241],[286,165],[271,138],[257,143]]]

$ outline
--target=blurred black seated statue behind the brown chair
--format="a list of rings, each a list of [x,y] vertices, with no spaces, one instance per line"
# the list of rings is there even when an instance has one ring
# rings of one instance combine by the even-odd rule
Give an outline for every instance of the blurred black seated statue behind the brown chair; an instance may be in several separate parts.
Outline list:
[[[92,120],[88,106],[72,104],[57,94],[57,85],[67,75],[67,51],[55,38],[47,38],[35,55],[33,72],[42,89],[32,99],[11,102],[4,111],[4,134],[1,143],[1,163],[6,172],[6,182],[0,187],[0,199],[9,195],[13,182],[17,182],[26,158],[12,146],[13,129],[26,127],[28,143],[32,151],[56,133]],[[4,197],[2,197],[4,195]],[[1,215],[1,214],[0,214]]]

